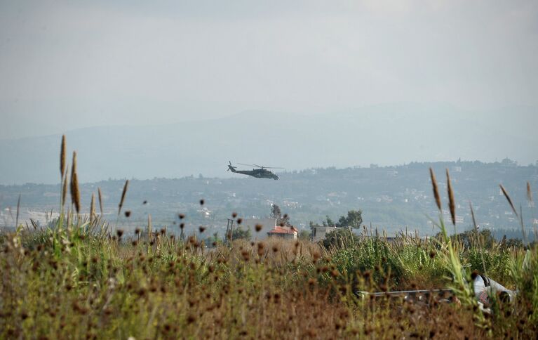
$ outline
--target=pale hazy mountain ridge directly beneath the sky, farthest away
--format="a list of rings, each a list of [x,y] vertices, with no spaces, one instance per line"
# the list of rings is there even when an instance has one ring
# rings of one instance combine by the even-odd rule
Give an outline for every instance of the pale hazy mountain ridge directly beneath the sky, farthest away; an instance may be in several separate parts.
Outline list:
[[[286,169],[510,157],[538,159],[538,115],[519,107],[379,105],[333,115],[243,112],[225,119],[68,131],[83,182],[227,176],[226,164]],[[0,183],[58,183],[60,136],[0,140]]]

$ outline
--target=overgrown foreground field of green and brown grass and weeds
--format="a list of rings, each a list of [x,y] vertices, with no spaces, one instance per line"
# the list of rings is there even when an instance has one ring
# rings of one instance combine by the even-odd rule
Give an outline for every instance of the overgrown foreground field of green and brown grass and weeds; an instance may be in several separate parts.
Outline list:
[[[537,334],[535,246],[523,266],[523,247],[485,244],[478,230],[471,242],[462,242],[447,236],[442,220],[438,238],[389,241],[365,230],[358,238],[342,233],[327,247],[236,240],[206,248],[195,237],[182,241],[152,230],[151,221],[126,237],[95,213],[95,200],[89,216],[81,214],[76,157],[68,188],[62,145],[60,218],[50,228],[20,226],[0,238],[2,339],[529,339]],[[438,199],[433,173],[431,178]],[[127,191],[128,183],[118,215]],[[72,209],[65,208],[67,192]],[[454,216],[450,185],[448,197]],[[492,313],[483,313],[468,283],[476,271],[518,289],[515,301],[492,296]],[[404,302],[356,294],[445,287],[453,291],[444,296],[448,302],[436,296]]]

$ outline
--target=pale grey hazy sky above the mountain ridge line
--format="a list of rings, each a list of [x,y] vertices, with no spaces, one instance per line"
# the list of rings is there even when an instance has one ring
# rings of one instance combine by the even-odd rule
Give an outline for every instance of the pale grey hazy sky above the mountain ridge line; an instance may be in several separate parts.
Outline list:
[[[0,0],[0,138],[400,101],[538,105],[538,1]]]

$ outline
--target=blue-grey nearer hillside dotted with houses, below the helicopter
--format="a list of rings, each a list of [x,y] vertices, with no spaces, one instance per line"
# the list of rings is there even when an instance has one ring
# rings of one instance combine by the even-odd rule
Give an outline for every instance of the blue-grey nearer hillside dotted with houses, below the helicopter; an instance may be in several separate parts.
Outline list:
[[[288,236],[270,221],[274,204],[290,216],[293,233],[307,230],[310,222],[321,223],[327,216],[337,218],[351,209],[363,212],[363,224],[394,234],[398,230],[418,230],[424,235],[437,232],[433,221],[438,218],[429,181],[429,168],[437,174],[441,192],[446,196],[445,169],[453,181],[457,200],[457,228],[469,229],[469,202],[476,212],[480,228],[518,228],[519,220],[502,196],[499,184],[509,190],[518,207],[521,206],[525,225],[538,224],[538,214],[532,202],[525,199],[527,181],[538,188],[538,166],[520,166],[510,159],[500,162],[434,162],[401,166],[351,167],[347,169],[306,169],[279,173],[278,181],[257,178],[205,178],[203,175],[184,178],[154,178],[130,180],[125,207],[130,217],[121,216],[119,227],[126,230],[143,226],[149,215],[154,225],[170,232],[179,232],[177,214],[184,214],[185,230],[194,232],[199,225],[208,232],[224,235],[227,220],[233,212],[250,227],[263,225]],[[100,188],[103,192],[103,214],[116,221],[117,202],[123,180],[109,180],[81,185],[83,210],[88,209],[90,196]],[[0,185],[0,228],[15,224],[18,197],[20,221],[46,225],[58,214],[59,185]],[[206,204],[199,204],[203,199]],[[446,197],[443,197],[446,202]],[[145,203],[144,203],[145,202]],[[448,218],[448,209],[443,210]],[[432,221],[433,220],[433,221]],[[263,235],[263,236],[260,236]]]

